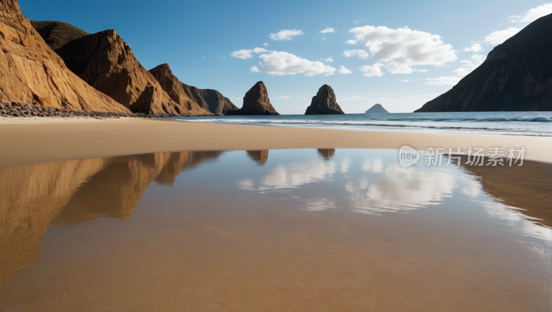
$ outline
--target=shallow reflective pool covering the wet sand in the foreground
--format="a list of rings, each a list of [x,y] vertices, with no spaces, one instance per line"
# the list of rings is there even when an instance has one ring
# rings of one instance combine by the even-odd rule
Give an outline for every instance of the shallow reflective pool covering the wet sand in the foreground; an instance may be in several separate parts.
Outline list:
[[[396,150],[0,169],[0,311],[550,311],[551,166]]]

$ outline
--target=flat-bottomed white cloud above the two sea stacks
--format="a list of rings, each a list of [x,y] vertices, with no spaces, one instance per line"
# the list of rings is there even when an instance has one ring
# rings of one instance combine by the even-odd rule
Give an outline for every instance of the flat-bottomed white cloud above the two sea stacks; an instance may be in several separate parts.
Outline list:
[[[309,61],[288,52],[268,51],[260,55],[263,62],[259,67],[253,66],[251,72],[265,72],[268,75],[295,75],[304,73],[305,76],[326,74],[333,75],[335,68],[324,65],[321,61]]]

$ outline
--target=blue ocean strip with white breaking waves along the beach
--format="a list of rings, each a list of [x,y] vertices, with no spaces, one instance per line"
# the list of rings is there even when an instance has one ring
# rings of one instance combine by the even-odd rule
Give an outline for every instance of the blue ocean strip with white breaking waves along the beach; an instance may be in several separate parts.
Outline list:
[[[419,133],[552,136],[552,112],[376,113],[206,116],[172,119],[221,124]]]

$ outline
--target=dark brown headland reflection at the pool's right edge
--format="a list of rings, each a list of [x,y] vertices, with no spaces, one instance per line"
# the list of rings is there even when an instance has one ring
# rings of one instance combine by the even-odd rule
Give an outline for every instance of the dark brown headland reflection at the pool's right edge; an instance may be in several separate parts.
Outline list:
[[[464,162],[466,159],[464,159]],[[464,166],[485,193],[520,208],[536,224],[552,227],[552,165],[524,161],[523,166]]]

